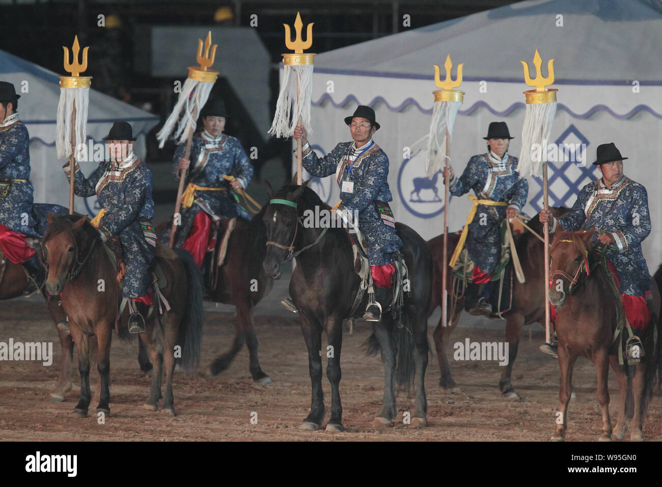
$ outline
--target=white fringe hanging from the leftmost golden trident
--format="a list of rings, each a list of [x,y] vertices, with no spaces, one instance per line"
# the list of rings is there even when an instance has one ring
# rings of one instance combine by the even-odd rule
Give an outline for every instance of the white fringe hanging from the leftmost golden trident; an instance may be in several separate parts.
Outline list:
[[[73,103],[76,104],[75,126],[71,126]],[[71,130],[75,131],[75,146],[87,142],[87,107],[89,105],[89,88],[60,88],[57,125],[55,129],[55,147],[58,159],[71,155]],[[76,160],[84,157],[83,152],[76,152]]]

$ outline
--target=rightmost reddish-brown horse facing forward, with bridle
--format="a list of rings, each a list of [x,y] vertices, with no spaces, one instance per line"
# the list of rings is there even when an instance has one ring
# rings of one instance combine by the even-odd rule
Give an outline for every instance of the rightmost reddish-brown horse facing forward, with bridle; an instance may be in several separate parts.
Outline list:
[[[630,439],[642,441],[643,417],[652,396],[659,360],[659,353],[654,352],[653,332],[659,328],[660,296],[657,285],[653,282],[651,322],[641,337],[646,355],[636,366],[620,365],[618,347],[621,346],[621,341],[620,339],[614,341],[613,338],[616,330],[616,303],[609,291],[608,280],[611,278],[601,262],[592,266],[590,274],[587,275],[585,270],[589,265],[587,252],[594,231],[595,229],[556,232],[549,248],[551,280],[559,284],[549,288],[549,301],[557,307],[555,325],[559,339],[558,354],[561,369],[560,405],[556,431],[551,439],[563,441],[565,438],[573,366],[578,356],[585,356],[593,362],[597,375],[596,393],[602,411],[602,434],[599,440],[611,441],[612,432],[616,439],[623,439],[627,423],[626,415],[628,415],[632,417]],[[568,278],[568,276],[575,277]],[[621,333],[627,334],[626,331]],[[616,372],[620,390],[618,419],[613,431],[609,417],[609,364]],[[632,411],[633,402],[634,411]]]

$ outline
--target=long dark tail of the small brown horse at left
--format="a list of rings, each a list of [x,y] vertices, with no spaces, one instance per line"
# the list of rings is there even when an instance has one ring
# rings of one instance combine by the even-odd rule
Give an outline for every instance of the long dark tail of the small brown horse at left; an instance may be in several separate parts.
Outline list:
[[[203,276],[189,252],[175,248],[186,270],[189,283],[186,305],[179,323],[181,366],[192,371],[200,364],[200,343],[203,336]]]

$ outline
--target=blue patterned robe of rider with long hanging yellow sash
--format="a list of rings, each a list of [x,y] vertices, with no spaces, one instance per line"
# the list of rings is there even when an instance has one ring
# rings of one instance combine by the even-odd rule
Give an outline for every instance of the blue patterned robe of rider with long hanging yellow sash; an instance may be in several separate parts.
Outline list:
[[[488,152],[473,156],[462,176],[453,178],[450,193],[461,196],[471,189],[479,199],[505,201],[510,207],[522,211],[526,204],[529,184],[518,176],[518,158],[504,154],[502,160]],[[501,252],[499,225],[506,217],[506,206],[478,205],[473,221],[469,223],[466,246],[471,260],[485,274],[492,274]]]

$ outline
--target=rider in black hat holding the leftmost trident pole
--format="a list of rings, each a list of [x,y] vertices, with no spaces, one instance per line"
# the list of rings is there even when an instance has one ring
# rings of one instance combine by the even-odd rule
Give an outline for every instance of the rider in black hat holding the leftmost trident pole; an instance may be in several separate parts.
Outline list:
[[[129,123],[113,123],[104,139],[111,160],[102,161],[89,178],[83,176],[76,164],[74,189],[78,196],[97,195],[101,211],[91,223],[99,230],[101,240],[119,237],[126,264],[122,296],[128,298],[131,311],[128,331],[143,333],[144,317],[152,304],[152,274],[148,270],[156,246],[156,234],[150,223],[154,217],[152,171],[133,152],[136,139]],[[69,163],[64,166],[64,174],[70,179]]]

